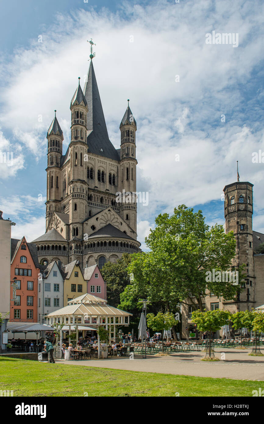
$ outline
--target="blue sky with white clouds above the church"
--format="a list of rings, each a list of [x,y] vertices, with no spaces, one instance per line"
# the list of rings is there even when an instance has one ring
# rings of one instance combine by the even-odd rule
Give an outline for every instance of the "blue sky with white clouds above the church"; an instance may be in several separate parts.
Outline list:
[[[3,3],[0,151],[13,152],[13,165],[0,163],[0,209],[17,223],[12,237],[45,232],[47,128],[56,109],[65,153],[91,37],[116,148],[128,98],[137,122],[137,191],[149,193],[138,205],[139,241],[156,215],[183,203],[223,223],[222,189],[236,181],[237,160],[240,181],[254,184],[254,229],[264,232],[264,163],[252,162],[264,153],[263,9],[258,0]],[[238,46],[207,44],[213,31]]]

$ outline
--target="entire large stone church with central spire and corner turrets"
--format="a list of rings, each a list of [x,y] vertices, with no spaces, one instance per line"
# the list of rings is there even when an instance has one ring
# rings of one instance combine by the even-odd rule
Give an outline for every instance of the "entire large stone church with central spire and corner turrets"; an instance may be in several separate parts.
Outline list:
[[[46,232],[33,240],[39,263],[75,261],[81,268],[140,251],[136,240],[136,120],[129,103],[120,123],[120,149],[108,137],[92,60],[84,89],[70,103],[71,140],[55,117],[47,131]],[[125,190],[120,202],[118,192]]]

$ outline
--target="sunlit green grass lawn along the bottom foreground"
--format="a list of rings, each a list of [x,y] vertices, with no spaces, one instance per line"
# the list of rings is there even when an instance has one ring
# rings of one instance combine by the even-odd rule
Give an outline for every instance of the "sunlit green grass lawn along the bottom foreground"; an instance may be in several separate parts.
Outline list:
[[[88,396],[252,396],[256,381],[56,365],[0,357],[0,389],[13,390],[14,396],[85,396],[85,392]]]

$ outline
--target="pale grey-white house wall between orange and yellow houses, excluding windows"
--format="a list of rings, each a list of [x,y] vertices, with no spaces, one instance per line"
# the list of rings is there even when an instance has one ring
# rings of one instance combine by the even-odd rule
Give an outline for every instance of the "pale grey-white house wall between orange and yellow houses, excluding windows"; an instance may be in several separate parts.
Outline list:
[[[53,271],[57,272],[57,276],[53,276]],[[45,290],[45,284],[50,284],[50,291]],[[54,284],[59,285],[59,291],[54,291]],[[45,299],[50,299],[50,306],[46,306]],[[54,306],[54,299],[58,299],[58,306]],[[43,278],[38,282],[38,322],[44,323],[44,317],[50,312],[54,312],[64,307],[64,280],[55,262],[52,270],[47,278]]]

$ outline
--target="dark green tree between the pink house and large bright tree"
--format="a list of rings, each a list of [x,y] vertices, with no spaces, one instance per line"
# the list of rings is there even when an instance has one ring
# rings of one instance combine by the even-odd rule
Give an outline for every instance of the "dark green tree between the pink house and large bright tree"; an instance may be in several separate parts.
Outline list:
[[[116,263],[106,262],[101,269],[103,279],[106,282],[107,302],[111,306],[117,307],[120,303],[120,294],[130,282],[128,274],[130,262],[131,255],[124,253]]]

